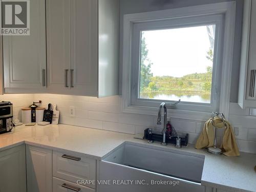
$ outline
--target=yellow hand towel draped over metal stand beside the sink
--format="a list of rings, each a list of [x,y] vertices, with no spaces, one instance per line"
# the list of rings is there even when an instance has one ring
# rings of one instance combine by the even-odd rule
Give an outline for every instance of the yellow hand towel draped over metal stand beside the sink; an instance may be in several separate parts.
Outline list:
[[[199,149],[214,146],[214,127],[222,128],[225,127],[225,124],[226,130],[221,145],[224,151],[223,154],[226,156],[239,156],[240,153],[238,150],[236,138],[234,137],[233,129],[228,121],[224,120],[223,122],[223,119],[220,117],[210,118],[205,122],[204,129],[197,140],[196,148]]]

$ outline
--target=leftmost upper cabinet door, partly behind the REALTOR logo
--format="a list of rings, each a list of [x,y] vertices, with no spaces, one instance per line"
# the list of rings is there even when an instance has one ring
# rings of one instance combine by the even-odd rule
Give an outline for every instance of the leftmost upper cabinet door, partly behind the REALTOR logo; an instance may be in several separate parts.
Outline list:
[[[46,89],[45,0],[30,1],[30,35],[3,36],[3,61],[7,93]]]

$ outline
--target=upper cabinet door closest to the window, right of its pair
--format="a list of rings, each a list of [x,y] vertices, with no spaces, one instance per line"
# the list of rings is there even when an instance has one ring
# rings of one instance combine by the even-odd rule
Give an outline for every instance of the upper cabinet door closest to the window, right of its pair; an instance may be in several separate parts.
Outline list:
[[[70,0],[72,94],[98,96],[98,8],[95,0]],[[108,36],[102,36],[108,38]],[[103,62],[103,61],[102,61]]]

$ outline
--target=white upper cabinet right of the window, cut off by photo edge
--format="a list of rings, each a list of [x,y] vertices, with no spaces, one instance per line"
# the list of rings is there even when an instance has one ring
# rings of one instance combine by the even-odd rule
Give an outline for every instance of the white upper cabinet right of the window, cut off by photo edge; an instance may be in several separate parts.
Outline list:
[[[256,107],[256,1],[244,1],[238,104]]]

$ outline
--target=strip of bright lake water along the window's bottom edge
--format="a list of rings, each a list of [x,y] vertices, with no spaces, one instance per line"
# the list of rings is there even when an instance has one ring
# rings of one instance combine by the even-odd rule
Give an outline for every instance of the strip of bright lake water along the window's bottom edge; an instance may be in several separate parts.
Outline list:
[[[200,102],[200,103],[210,103],[210,94],[172,94],[172,93],[159,93],[159,92],[143,92],[140,93],[141,99],[159,99],[159,100],[172,100],[186,102]]]

